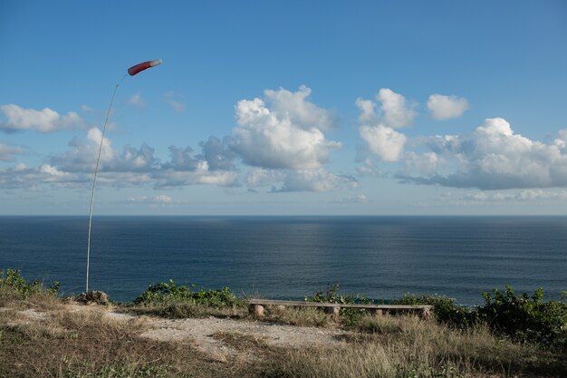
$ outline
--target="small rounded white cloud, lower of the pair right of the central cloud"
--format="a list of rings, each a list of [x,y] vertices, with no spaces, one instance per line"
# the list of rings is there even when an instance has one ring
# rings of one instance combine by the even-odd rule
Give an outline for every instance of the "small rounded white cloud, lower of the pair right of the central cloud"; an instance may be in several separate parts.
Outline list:
[[[398,161],[407,140],[404,134],[383,125],[361,126],[360,138],[384,161]]]

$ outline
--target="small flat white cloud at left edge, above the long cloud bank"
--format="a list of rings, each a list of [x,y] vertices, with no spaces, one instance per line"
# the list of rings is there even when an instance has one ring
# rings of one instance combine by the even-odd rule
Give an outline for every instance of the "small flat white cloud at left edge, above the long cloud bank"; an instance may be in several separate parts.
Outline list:
[[[49,108],[36,111],[24,109],[15,104],[7,104],[0,105],[0,112],[5,116],[5,121],[0,121],[0,130],[6,132],[24,130],[53,132],[82,129],[85,126],[85,122],[74,111],[61,115]]]

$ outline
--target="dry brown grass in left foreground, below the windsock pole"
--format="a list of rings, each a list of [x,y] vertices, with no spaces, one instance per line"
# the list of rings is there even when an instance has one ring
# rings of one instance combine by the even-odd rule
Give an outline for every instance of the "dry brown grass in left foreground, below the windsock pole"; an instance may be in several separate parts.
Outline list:
[[[0,377],[238,377],[255,369],[211,360],[190,343],[140,338],[143,318],[115,318],[99,307],[60,302],[41,319],[21,308],[1,311]]]

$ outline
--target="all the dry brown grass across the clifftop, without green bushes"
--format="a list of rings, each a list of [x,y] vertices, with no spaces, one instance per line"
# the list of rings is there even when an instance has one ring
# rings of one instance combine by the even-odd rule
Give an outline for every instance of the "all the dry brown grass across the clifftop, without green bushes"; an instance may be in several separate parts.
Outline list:
[[[106,307],[64,305],[54,296],[0,294],[0,303],[8,307],[0,311],[0,377],[567,376],[564,355],[498,339],[485,327],[457,331],[416,316],[365,317],[336,347],[282,349],[251,334],[217,333],[240,356],[255,356],[219,362],[191,343],[139,337],[149,327],[144,316],[117,318]],[[168,311],[217,311],[197,310]],[[246,309],[233,310],[248,316]],[[337,326],[315,309],[272,307],[266,319]]]

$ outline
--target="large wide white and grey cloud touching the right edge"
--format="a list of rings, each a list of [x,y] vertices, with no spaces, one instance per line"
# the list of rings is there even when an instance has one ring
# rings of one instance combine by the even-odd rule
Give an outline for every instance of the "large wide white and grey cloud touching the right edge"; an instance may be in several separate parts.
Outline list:
[[[456,188],[530,189],[567,186],[567,132],[551,144],[515,133],[502,118],[485,120],[462,136],[438,136],[428,148],[443,158],[437,170],[413,182]]]

